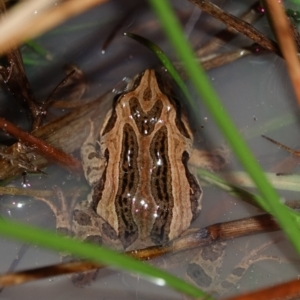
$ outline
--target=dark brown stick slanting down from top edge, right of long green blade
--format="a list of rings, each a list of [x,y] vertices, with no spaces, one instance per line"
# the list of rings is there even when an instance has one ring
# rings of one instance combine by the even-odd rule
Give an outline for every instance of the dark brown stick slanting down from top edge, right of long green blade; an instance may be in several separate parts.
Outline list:
[[[244,34],[246,37],[250,38],[254,42],[258,43],[261,47],[281,55],[280,49],[276,42],[267,38],[260,31],[255,29],[249,23],[240,20],[239,18],[223,11],[218,6],[212,4],[207,0],[189,0],[190,2],[196,4],[200,9],[210,14],[214,18],[224,22],[227,26],[234,28],[238,32]]]

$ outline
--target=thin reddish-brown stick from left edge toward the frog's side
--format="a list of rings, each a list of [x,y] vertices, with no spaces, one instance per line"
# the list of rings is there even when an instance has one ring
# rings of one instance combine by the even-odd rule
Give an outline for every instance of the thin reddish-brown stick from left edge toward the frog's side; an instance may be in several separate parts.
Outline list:
[[[28,132],[16,127],[14,124],[8,122],[4,118],[0,118],[0,128],[14,136],[21,142],[34,148],[35,151],[39,152],[50,160],[55,161],[74,171],[79,171],[82,169],[81,163],[77,159],[57,148],[54,148],[50,144],[33,136],[32,134],[29,134]]]

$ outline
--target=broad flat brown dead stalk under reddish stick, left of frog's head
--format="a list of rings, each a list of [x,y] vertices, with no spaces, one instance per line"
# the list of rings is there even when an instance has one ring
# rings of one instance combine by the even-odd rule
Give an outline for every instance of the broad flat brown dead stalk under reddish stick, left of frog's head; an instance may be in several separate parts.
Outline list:
[[[92,102],[77,107],[70,113],[39,127],[33,134],[54,147],[63,149],[66,153],[73,153],[86,139],[89,120],[94,122],[95,128],[101,127],[104,117],[111,107],[112,97],[111,93],[107,93]],[[10,156],[10,161],[14,160],[17,149],[18,143],[15,143],[5,150],[6,155]],[[49,160],[45,156],[39,155],[33,149],[27,148],[26,155],[28,157],[34,155],[35,158],[32,163],[38,169],[49,164]],[[16,164],[11,164],[10,161],[0,159],[0,180],[16,176],[23,171]]]

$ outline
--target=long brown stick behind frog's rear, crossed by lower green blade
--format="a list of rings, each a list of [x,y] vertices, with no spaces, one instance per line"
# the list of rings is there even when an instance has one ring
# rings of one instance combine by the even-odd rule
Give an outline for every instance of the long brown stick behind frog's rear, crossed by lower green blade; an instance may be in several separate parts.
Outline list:
[[[241,236],[252,235],[266,231],[279,230],[273,217],[267,214],[237,221],[218,223],[202,229],[190,229],[182,237],[161,247],[149,247],[146,249],[130,251],[126,254],[139,260],[149,260],[163,254],[190,250],[196,247],[208,246],[214,242],[232,239]],[[62,274],[71,274],[102,268],[104,265],[92,262],[71,262],[54,266],[41,267],[28,271],[0,276],[0,286],[10,286],[24,283],[30,280],[41,279]]]

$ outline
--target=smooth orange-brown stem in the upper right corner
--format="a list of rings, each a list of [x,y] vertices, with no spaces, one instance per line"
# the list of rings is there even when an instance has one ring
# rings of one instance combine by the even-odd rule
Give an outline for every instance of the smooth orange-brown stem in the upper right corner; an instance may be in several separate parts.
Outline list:
[[[296,98],[300,105],[300,64],[289,19],[281,3],[274,0],[265,0],[264,2],[270,14],[276,39],[286,61]]]

